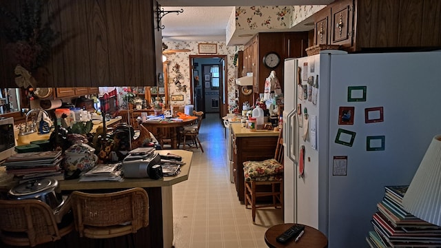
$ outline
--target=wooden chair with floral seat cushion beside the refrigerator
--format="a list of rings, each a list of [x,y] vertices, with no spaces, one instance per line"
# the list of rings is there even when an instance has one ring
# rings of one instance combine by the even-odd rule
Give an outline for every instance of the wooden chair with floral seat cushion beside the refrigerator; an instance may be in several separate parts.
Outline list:
[[[256,224],[256,209],[262,207],[283,208],[283,138],[278,136],[274,158],[265,161],[245,161],[245,207],[252,207],[253,224]],[[257,203],[256,198],[272,197],[271,203]]]

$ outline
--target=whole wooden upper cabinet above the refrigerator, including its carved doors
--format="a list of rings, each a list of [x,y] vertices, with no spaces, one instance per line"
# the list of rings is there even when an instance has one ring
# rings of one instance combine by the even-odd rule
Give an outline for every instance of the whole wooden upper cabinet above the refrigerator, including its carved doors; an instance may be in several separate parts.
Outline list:
[[[348,52],[441,47],[441,1],[337,0],[316,14],[315,44]]]

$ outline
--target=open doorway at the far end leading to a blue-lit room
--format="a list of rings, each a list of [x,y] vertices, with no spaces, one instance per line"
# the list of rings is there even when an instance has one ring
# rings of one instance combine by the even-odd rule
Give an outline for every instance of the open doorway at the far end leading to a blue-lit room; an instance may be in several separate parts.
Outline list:
[[[194,110],[227,113],[227,55],[190,55],[190,94]]]

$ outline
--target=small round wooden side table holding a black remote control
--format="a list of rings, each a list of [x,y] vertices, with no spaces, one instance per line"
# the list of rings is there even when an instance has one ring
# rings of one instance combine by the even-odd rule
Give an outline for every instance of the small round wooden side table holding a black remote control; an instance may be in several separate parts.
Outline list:
[[[269,227],[265,232],[265,242],[270,248],[327,248],[328,239],[325,234],[318,231],[314,227],[305,225],[305,234],[296,242],[294,239],[280,244],[276,241],[276,238],[283,234],[284,231],[289,229],[294,223],[280,224],[273,227]]]

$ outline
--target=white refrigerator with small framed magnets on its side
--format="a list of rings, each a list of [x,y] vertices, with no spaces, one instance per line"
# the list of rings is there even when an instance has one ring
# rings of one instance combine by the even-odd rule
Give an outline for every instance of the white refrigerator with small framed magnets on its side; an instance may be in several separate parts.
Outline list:
[[[441,134],[440,62],[341,51],[285,61],[285,223],[319,229],[329,248],[368,247],[384,186],[409,185]]]

